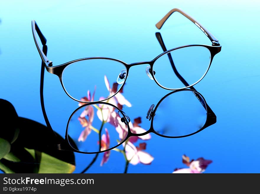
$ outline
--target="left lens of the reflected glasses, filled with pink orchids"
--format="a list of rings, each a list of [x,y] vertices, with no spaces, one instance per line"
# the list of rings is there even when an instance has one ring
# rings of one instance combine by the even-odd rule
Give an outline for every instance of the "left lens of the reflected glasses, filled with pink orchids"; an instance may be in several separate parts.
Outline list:
[[[117,108],[101,103],[80,108],[69,120],[68,135],[74,141],[70,145],[75,143],[74,149],[88,153],[117,146],[128,134],[128,125],[119,113]]]

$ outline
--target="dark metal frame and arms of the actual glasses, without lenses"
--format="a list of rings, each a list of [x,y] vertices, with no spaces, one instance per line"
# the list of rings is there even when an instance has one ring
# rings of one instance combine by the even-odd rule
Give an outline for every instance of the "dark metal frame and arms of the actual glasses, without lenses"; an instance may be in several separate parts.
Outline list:
[[[88,57],[88,58],[80,58],[80,59],[76,59],[76,60],[73,60],[73,61],[69,61],[67,63],[64,63],[64,64],[61,64],[61,65],[57,65],[57,66],[53,66],[53,62],[52,61],[49,61],[47,56],[44,54],[43,50],[40,48],[40,44],[38,42],[38,39],[37,39],[37,35],[36,33],[38,34],[40,40],[41,40],[41,43],[42,45],[46,45],[46,38],[44,37],[44,35],[42,34],[42,32],[40,31],[37,23],[35,22],[35,20],[32,20],[32,34],[33,34],[33,38],[34,38],[34,41],[35,41],[35,44],[36,44],[36,47],[37,47],[37,50],[40,54],[40,57],[43,61],[43,63],[45,64],[45,68],[46,70],[51,73],[51,74],[55,74],[59,77],[59,80],[61,82],[61,85],[62,85],[62,88],[64,89],[64,92],[73,100],[77,101],[77,102],[85,102],[85,101],[81,101],[81,100],[78,100],[74,97],[72,97],[65,89],[64,87],[64,84],[63,84],[63,81],[62,81],[62,73],[64,71],[64,69],[72,64],[72,63],[75,63],[75,62],[78,62],[78,61],[84,61],[84,60],[90,60],[90,59],[106,59],[106,60],[112,60],[112,61],[117,61],[121,64],[123,64],[126,68],[126,76],[125,76],[125,79],[124,79],[124,82],[121,84],[120,88],[118,89],[117,92],[115,92],[113,95],[109,96],[108,98],[104,99],[104,100],[101,100],[101,101],[105,101],[105,100],[108,100],[109,98],[115,96],[119,91],[120,89],[124,86],[125,82],[126,82],[126,79],[127,79],[127,76],[128,76],[128,73],[129,73],[129,69],[132,67],[132,66],[136,66],[136,65],[143,65],[143,64],[149,64],[150,67],[151,67],[151,71],[150,71],[150,74],[152,75],[152,78],[154,79],[155,83],[162,87],[163,89],[167,89],[167,90],[180,90],[180,89],[186,89],[186,88],[189,88],[191,86],[194,86],[195,84],[197,84],[199,81],[201,81],[204,76],[207,74],[210,66],[211,66],[211,63],[212,63],[212,60],[214,58],[214,56],[219,53],[221,51],[221,45],[219,44],[218,40],[207,30],[205,29],[199,22],[197,22],[195,19],[193,19],[191,16],[189,16],[188,14],[186,14],[185,12],[183,12],[181,9],[172,9],[170,12],[168,12],[168,14],[165,15],[165,17],[163,17],[163,19],[161,19],[157,24],[156,24],[156,27],[158,29],[160,29],[164,22],[168,19],[168,17],[170,17],[171,14],[173,14],[174,12],[179,12],[181,13],[183,16],[185,16],[186,18],[188,18],[190,21],[192,21],[196,26],[198,26],[203,32],[205,35],[207,35],[207,37],[211,40],[212,42],[212,45],[199,45],[199,44],[193,44],[193,45],[184,45],[184,46],[180,46],[180,47],[176,47],[176,48],[173,48],[173,49],[170,49],[170,50],[166,50],[165,52],[161,53],[160,55],[158,55],[157,57],[155,57],[153,60],[151,61],[142,61],[142,62],[137,62],[137,63],[125,63],[123,61],[120,61],[118,59],[113,59],[113,58],[107,58],[107,57]],[[163,87],[156,79],[155,79],[155,76],[154,76],[154,70],[153,70],[153,65],[155,63],[155,61],[165,55],[165,54],[170,54],[171,51],[173,50],[176,50],[176,49],[180,49],[180,48],[185,48],[185,47],[192,47],[192,46],[201,46],[201,47],[205,47],[207,48],[209,51],[210,51],[210,54],[211,54],[211,58],[210,58],[210,63],[209,63],[209,66],[206,70],[206,72],[204,73],[204,75],[198,80],[196,81],[194,84],[191,84],[189,86],[185,86],[183,88],[178,88],[178,89],[170,89],[170,88],[166,88],[166,87]],[[94,102],[101,102],[101,101],[94,101]]]

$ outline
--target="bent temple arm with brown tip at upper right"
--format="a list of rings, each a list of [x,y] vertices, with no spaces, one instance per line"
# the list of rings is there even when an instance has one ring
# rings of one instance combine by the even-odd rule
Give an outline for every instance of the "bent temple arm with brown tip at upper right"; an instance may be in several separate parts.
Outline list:
[[[164,24],[164,22],[170,17],[171,14],[174,12],[179,12],[186,18],[188,18],[191,22],[193,22],[196,26],[198,26],[202,32],[209,38],[209,40],[212,42],[212,46],[220,46],[220,43],[218,42],[217,38],[215,38],[206,28],[204,28],[198,21],[196,21],[194,18],[192,18],[190,15],[183,12],[181,9],[174,8],[168,12],[163,19],[161,19],[155,26],[160,30]]]

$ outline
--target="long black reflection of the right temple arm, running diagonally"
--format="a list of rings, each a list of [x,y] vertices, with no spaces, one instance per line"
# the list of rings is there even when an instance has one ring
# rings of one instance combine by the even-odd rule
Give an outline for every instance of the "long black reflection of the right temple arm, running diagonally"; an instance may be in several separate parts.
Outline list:
[[[166,46],[165,46],[165,44],[164,44],[164,42],[163,42],[163,38],[162,38],[162,36],[161,36],[161,33],[160,33],[160,32],[156,32],[155,35],[156,35],[156,38],[157,38],[158,42],[160,43],[160,45],[161,45],[163,51],[165,52],[167,49],[166,49]],[[172,68],[173,68],[173,71],[174,71],[175,75],[179,78],[179,80],[180,80],[186,87],[189,86],[188,82],[187,82],[187,81],[181,76],[181,74],[179,74],[179,72],[177,71],[176,66],[174,65],[173,58],[172,58],[171,54],[170,54],[170,53],[167,53],[167,55],[168,55],[170,64],[171,64],[171,66],[172,66]],[[190,89],[193,89],[193,90],[195,90],[195,91],[197,92],[197,90],[196,90],[193,86],[191,86],[191,87],[189,87],[189,88],[190,88]],[[217,122],[217,116],[216,116],[215,113],[212,111],[212,109],[209,107],[209,105],[207,105],[207,103],[205,104],[205,101],[202,99],[202,97],[201,97],[199,94],[197,94],[197,93],[194,92],[194,95],[197,97],[197,99],[199,100],[199,102],[202,104],[202,106],[205,108],[205,110],[207,110],[209,116],[211,117],[210,123],[209,123],[208,121],[206,122],[207,126],[213,125],[214,123],[216,123],[216,122]],[[206,125],[205,125],[205,126],[206,126]]]

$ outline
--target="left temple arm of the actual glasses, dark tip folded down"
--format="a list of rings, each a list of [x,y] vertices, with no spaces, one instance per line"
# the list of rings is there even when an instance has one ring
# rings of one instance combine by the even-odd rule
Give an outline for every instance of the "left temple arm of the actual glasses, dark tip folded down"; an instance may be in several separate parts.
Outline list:
[[[52,66],[52,62],[48,60],[46,54],[43,52],[43,49],[41,49],[41,45],[39,44],[36,33],[38,34],[43,47],[46,46],[46,42],[47,42],[46,38],[44,37],[43,33],[40,31],[40,28],[38,27],[35,20],[32,20],[32,35],[33,35],[33,39],[34,39],[35,45],[37,47],[37,50],[40,54],[40,57],[41,57],[42,61],[44,61],[46,66]]]

